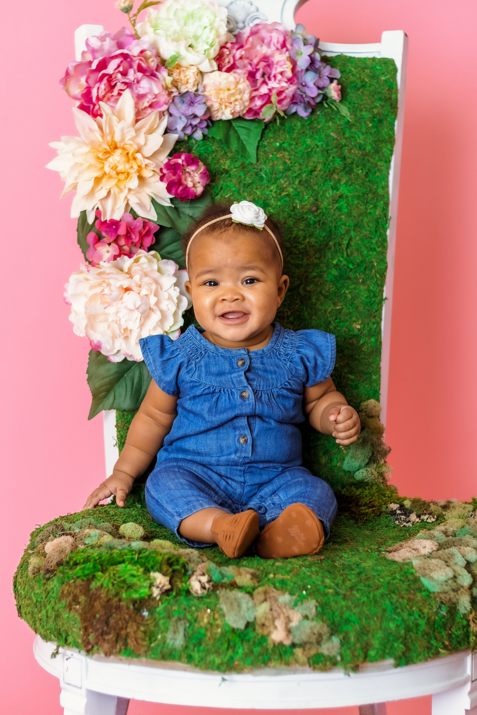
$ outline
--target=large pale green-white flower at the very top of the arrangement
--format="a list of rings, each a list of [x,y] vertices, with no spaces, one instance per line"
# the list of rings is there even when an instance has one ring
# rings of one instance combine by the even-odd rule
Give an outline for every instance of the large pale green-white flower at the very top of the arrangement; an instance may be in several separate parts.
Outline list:
[[[217,69],[214,57],[230,39],[227,9],[208,0],[165,0],[147,11],[137,31],[149,37],[166,66],[195,65],[202,72]]]

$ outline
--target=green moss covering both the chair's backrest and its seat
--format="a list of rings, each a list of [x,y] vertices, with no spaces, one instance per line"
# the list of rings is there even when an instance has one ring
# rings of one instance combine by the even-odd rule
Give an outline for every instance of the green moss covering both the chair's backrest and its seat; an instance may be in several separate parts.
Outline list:
[[[256,201],[283,225],[291,287],[277,318],[282,325],[336,335],[333,379],[350,403],[362,405],[365,429],[348,450],[303,430],[305,465],[338,497],[330,541],[317,556],[281,562],[185,549],[154,523],[138,484],[124,509],[113,502],[31,534],[14,588],[19,615],[46,641],[220,673],[353,671],[386,659],[404,666],[473,645],[477,505],[402,503],[388,487],[373,401],[380,393],[395,66],[349,56],[333,64],[352,122],[330,109],[271,122],[257,164],[212,138],[177,149],[205,162],[213,199]],[[119,442],[131,416],[117,413]],[[393,500],[403,506],[391,513]],[[395,547],[408,540],[407,551]]]

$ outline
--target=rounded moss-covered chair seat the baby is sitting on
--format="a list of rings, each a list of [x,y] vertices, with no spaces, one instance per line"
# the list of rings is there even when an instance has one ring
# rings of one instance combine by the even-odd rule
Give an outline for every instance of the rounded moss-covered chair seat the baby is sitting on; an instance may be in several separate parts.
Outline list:
[[[152,520],[143,495],[138,485],[124,509],[100,506],[32,533],[15,593],[21,617],[44,640],[220,672],[308,664],[353,670],[386,659],[404,666],[471,645],[477,552],[474,561],[465,552],[472,559],[468,545],[477,546],[477,520],[468,518],[477,504],[448,503],[436,522],[405,533],[385,513],[364,523],[340,514],[322,553],[279,562],[183,548]],[[433,593],[430,574],[423,583],[410,561],[385,558],[389,547],[426,530],[429,539],[442,535],[433,556],[464,553],[464,566],[445,582],[453,591]],[[167,577],[167,590],[157,574]]]

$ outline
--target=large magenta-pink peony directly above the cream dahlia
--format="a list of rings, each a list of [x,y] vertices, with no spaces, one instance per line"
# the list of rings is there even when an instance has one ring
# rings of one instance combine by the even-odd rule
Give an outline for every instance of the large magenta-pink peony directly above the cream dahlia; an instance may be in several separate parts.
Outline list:
[[[116,107],[126,89],[132,93],[136,119],[154,109],[167,109],[167,69],[160,64],[147,37],[138,40],[124,27],[115,35],[102,32],[89,37],[82,60],[72,62],[60,84],[92,117],[100,117],[99,102]]]

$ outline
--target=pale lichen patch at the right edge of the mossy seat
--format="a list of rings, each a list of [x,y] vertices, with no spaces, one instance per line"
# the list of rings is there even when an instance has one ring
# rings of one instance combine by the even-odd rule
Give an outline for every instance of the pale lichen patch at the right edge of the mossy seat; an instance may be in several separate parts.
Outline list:
[[[457,603],[460,613],[471,610],[477,597],[477,512],[462,502],[441,503],[453,518],[410,541],[388,549],[392,561],[412,561],[421,582],[443,603]]]

